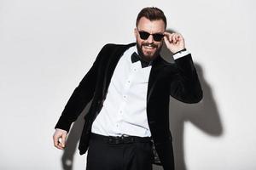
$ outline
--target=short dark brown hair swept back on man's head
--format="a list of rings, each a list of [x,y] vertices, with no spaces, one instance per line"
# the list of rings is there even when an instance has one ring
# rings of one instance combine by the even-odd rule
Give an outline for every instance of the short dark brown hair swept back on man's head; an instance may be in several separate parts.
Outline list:
[[[143,17],[146,17],[148,20],[163,20],[167,26],[166,16],[160,8],[156,7],[147,7],[143,8],[139,14],[137,14],[136,26],[139,20]]]

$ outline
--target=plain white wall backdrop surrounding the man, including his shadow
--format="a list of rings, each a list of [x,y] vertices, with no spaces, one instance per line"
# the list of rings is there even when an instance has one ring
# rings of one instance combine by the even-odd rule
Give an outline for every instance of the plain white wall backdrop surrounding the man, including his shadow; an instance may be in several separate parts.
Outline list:
[[[85,169],[81,119],[65,152],[55,123],[102,46],[135,41],[147,6],[183,34],[205,93],[196,105],[171,99],[177,169],[256,169],[253,0],[0,0],[0,169]]]

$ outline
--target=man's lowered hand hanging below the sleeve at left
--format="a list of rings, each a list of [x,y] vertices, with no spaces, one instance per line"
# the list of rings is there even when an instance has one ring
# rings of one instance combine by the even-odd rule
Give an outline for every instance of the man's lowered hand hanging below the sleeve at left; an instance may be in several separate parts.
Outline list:
[[[62,130],[60,128],[56,128],[55,133],[53,135],[53,139],[55,147],[60,150],[63,150],[65,148],[65,143],[67,139],[67,131]]]

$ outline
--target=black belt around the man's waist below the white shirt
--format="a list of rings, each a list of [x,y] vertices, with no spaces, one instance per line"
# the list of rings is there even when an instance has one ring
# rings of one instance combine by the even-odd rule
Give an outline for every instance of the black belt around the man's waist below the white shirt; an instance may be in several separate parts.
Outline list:
[[[108,144],[131,144],[139,142],[150,142],[150,137],[138,137],[138,136],[103,136],[101,134],[91,133],[91,139],[99,139],[105,141]]]

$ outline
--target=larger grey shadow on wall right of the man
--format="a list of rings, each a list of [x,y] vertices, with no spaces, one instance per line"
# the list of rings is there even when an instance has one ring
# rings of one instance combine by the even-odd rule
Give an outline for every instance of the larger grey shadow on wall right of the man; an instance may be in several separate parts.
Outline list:
[[[173,31],[169,31],[173,32]],[[161,56],[168,62],[174,62],[174,59],[166,56],[172,55],[166,47],[163,47]],[[193,54],[192,54],[193,57]],[[201,88],[203,90],[203,99],[197,104],[184,104],[177,99],[170,98],[170,128],[173,139],[173,151],[175,158],[175,169],[186,170],[186,163],[184,161],[184,124],[191,122],[211,136],[219,137],[223,135],[224,128],[218,113],[218,106],[212,96],[212,88],[206,82],[203,76],[201,65],[194,63],[198,77],[201,81]],[[154,166],[154,170],[163,169],[160,166]]]

